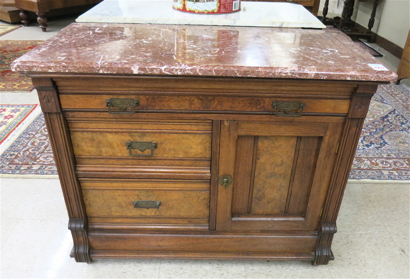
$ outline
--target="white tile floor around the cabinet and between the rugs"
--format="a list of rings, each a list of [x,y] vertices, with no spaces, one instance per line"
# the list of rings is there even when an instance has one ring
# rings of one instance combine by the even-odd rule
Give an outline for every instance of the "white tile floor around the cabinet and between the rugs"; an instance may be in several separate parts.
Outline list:
[[[47,39],[73,19],[33,24],[0,39]],[[3,23],[2,23],[3,24]],[[377,46],[374,46],[376,49]],[[397,70],[399,59],[379,49]],[[409,80],[402,81],[409,86]],[[36,103],[32,93],[1,93],[1,103]],[[335,261],[112,260],[75,263],[68,215],[56,179],[1,178],[2,278],[409,278],[410,183],[348,183],[332,250]]]

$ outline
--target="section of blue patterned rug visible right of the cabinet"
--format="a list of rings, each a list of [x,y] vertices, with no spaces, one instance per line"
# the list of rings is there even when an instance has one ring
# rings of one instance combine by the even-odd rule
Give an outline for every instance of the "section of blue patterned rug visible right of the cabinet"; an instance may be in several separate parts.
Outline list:
[[[410,91],[405,87],[379,86],[349,178],[410,180]]]

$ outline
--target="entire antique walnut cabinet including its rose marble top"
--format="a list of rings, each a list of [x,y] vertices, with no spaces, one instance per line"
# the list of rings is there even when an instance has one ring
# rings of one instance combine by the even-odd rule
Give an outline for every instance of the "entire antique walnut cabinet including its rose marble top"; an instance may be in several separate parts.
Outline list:
[[[12,69],[40,97],[77,262],[318,265],[370,98],[396,79],[368,63],[339,31],[76,23]]]

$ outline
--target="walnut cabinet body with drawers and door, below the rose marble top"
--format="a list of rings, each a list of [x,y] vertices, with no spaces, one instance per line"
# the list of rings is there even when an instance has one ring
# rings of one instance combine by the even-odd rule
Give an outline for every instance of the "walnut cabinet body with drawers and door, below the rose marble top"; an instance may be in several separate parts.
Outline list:
[[[32,78],[77,262],[333,260],[343,191],[380,82]]]

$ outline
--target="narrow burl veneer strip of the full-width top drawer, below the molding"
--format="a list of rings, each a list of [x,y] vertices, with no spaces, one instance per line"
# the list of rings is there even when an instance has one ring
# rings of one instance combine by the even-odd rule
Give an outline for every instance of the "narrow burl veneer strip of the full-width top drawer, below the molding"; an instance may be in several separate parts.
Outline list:
[[[65,110],[104,110],[107,100],[121,98],[138,100],[138,111],[219,111],[219,112],[265,112],[274,113],[274,102],[300,102],[303,113],[347,113],[349,99],[316,99],[306,97],[248,97],[248,96],[192,96],[192,95],[61,95],[61,105]],[[76,101],[76,102],[75,102]],[[117,108],[116,111],[119,111]],[[127,107],[127,112],[132,112]]]

